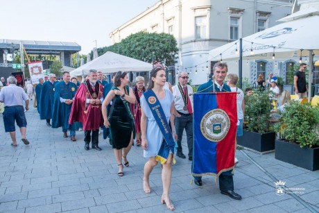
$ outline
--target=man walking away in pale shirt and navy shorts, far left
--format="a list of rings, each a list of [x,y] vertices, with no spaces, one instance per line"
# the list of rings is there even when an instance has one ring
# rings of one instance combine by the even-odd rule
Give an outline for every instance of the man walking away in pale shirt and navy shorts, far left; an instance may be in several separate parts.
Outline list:
[[[3,87],[0,92],[0,102],[4,103],[3,123],[6,133],[10,133],[12,139],[11,146],[17,146],[15,137],[15,122],[20,128],[21,140],[24,144],[29,144],[26,139],[26,116],[24,114],[23,102],[26,104],[26,110],[29,110],[28,96],[24,89],[17,86],[17,79],[13,76],[8,78],[8,87]]]

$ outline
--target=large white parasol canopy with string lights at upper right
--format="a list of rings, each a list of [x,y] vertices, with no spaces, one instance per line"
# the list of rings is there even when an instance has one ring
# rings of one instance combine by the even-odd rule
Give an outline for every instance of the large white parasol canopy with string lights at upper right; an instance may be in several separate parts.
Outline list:
[[[319,16],[313,15],[243,37],[243,59],[269,59],[273,54],[275,58],[309,56],[309,50],[318,56],[318,23]],[[209,51],[209,60],[239,60],[238,51],[239,40]]]

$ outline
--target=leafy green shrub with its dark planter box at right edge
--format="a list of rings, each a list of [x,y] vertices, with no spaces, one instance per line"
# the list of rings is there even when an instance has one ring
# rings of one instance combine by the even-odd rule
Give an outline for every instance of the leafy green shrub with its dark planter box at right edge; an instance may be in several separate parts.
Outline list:
[[[319,169],[319,107],[310,103],[291,101],[279,112],[279,123],[275,130],[279,139],[275,141],[275,158],[304,169]]]

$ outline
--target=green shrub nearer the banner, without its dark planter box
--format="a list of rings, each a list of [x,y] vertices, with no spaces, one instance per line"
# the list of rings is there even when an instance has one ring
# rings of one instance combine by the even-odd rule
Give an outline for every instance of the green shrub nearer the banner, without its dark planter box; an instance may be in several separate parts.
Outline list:
[[[245,102],[245,130],[255,133],[268,133],[268,118],[272,109],[270,92],[254,90]]]

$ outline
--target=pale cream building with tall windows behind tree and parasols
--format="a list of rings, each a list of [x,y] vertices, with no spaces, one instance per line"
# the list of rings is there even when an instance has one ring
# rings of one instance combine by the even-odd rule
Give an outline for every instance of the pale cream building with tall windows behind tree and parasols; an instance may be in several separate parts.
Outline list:
[[[119,26],[110,39],[115,44],[139,31],[172,34],[179,50],[172,74],[187,71],[192,84],[199,85],[211,69],[209,50],[279,24],[276,20],[290,15],[292,6],[290,0],[162,0]],[[249,78],[247,67],[243,77]],[[265,76],[272,67],[265,66]],[[235,61],[229,62],[229,70],[238,73]]]

